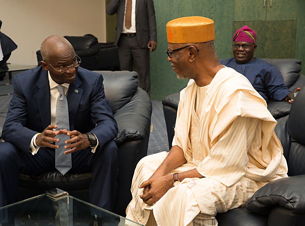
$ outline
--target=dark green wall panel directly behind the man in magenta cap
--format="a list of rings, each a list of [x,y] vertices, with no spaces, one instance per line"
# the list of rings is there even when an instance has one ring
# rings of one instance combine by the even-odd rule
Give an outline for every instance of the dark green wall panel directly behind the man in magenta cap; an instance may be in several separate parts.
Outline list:
[[[296,22],[296,20],[239,21],[233,23],[232,34],[242,26],[248,25],[257,35],[255,57],[294,58]]]

